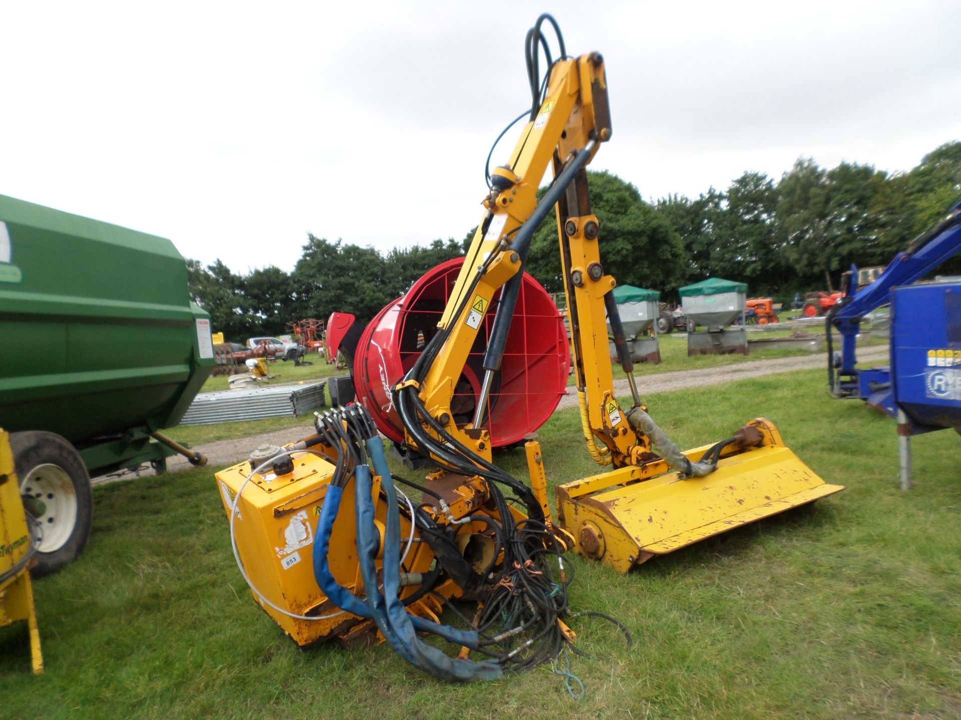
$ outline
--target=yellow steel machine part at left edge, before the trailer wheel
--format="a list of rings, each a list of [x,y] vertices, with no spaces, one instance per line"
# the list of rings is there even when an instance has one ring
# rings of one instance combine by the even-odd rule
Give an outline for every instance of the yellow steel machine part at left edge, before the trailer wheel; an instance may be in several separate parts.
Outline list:
[[[9,436],[0,430],[0,628],[27,621],[34,672],[39,674],[43,672],[43,656],[27,566],[32,547]]]

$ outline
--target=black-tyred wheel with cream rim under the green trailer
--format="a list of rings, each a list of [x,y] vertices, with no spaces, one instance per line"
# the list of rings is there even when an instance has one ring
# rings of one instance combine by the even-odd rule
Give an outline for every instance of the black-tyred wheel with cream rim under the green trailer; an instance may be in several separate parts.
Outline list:
[[[20,493],[30,495],[41,540],[35,577],[56,572],[83,551],[93,520],[93,493],[84,461],[73,445],[54,433],[12,433],[13,465]]]

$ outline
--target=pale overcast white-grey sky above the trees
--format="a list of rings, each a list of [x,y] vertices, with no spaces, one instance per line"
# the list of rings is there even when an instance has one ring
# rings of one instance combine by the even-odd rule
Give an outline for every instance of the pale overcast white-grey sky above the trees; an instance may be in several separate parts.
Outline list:
[[[798,156],[889,171],[961,137],[961,2],[0,0],[0,193],[291,270],[307,232],[460,239],[553,12],[606,60],[592,163],[647,199]],[[500,164],[509,135],[495,153]]]

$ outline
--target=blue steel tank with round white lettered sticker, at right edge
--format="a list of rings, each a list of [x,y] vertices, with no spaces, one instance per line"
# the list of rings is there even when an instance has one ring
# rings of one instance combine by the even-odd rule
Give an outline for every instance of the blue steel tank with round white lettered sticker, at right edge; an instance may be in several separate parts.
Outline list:
[[[899,287],[891,294],[892,389],[912,435],[961,429],[958,299],[961,282]]]

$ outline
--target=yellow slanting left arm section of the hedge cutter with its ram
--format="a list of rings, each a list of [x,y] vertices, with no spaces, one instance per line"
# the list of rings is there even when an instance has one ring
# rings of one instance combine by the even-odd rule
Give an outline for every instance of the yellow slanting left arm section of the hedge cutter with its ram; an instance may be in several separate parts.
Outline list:
[[[489,435],[482,422],[491,380],[500,371],[534,230],[583,174],[599,143],[610,134],[604,59],[598,53],[576,60],[562,58],[554,62],[544,100],[531,112],[509,162],[492,173],[491,192],[484,200],[487,212],[438,323],[443,345],[431,358],[418,387],[431,416],[459,442],[488,459]],[[553,163],[554,181],[538,204],[537,188],[549,163]],[[474,422],[458,428],[451,412],[454,388],[480,332],[484,313],[498,291],[501,296],[484,355],[484,379]],[[433,431],[431,434],[436,435]],[[408,444],[417,444],[409,432],[407,436]]]

